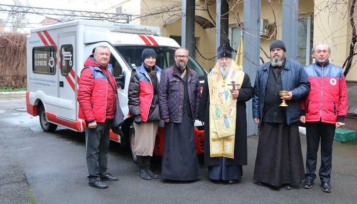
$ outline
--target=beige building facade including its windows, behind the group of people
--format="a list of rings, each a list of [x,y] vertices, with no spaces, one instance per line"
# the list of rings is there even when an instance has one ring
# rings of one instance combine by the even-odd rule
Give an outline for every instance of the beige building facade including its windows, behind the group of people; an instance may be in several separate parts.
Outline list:
[[[228,32],[231,46],[237,49],[241,36],[244,36],[241,29],[241,26],[244,27],[244,8],[243,1],[235,2],[237,1],[229,1]],[[298,1],[297,61],[303,66],[314,62],[311,49],[319,42],[330,44],[331,63],[343,66],[349,56],[352,40],[350,2],[351,0]],[[289,33],[282,30],[282,3],[283,0],[261,0],[261,35],[256,36],[260,38],[260,64],[269,60],[270,43]],[[196,0],[195,5],[195,15],[199,16],[195,22],[195,59],[209,70],[215,65],[216,56],[216,1]],[[180,44],[181,6],[182,2],[175,0],[126,0],[104,12],[132,14],[130,23],[159,26],[162,36],[174,38]],[[346,79],[357,81],[356,60],[353,61]]]

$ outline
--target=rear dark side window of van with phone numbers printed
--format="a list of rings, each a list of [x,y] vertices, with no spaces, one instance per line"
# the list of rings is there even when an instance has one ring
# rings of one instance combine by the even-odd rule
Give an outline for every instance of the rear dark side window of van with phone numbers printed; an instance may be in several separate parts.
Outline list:
[[[33,72],[55,74],[56,73],[56,47],[34,47],[32,50]]]

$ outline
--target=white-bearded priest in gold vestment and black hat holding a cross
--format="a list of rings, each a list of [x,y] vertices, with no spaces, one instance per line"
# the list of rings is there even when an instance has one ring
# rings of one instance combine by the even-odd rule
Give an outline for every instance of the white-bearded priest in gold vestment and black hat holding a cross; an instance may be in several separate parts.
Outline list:
[[[248,74],[232,59],[233,49],[217,49],[218,62],[206,76],[198,119],[204,124],[204,161],[211,181],[236,183],[247,164],[245,102],[253,96]]]

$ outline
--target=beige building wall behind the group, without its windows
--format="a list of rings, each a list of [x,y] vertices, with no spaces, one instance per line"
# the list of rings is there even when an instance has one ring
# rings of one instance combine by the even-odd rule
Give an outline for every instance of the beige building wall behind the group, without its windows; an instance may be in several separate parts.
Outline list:
[[[335,2],[328,0],[329,3]],[[351,0],[349,0],[351,1]],[[120,1],[116,6],[112,7],[111,12],[115,12],[115,8],[119,5],[125,13],[133,14],[133,18],[141,16],[130,23],[141,25],[154,25],[162,29],[162,36],[181,36],[181,1],[176,0],[126,0]],[[214,1],[209,1],[210,3]],[[314,15],[313,23],[313,44],[318,42],[326,42],[331,45],[331,63],[342,67],[349,53],[349,43],[351,41],[351,25],[348,21],[349,13],[348,3],[339,1],[339,3],[331,4],[329,9],[326,7],[326,0],[299,0],[299,16],[308,14]],[[282,39],[282,35],[288,31],[282,30],[282,3],[283,1],[261,1],[261,19],[267,19],[269,25],[276,22],[277,30],[274,35],[257,36],[260,37],[260,57],[263,62],[269,61],[269,45],[275,39]],[[237,3],[233,0],[229,1],[230,14],[229,26],[237,26],[238,18],[244,23],[243,19],[243,3]],[[212,3],[208,6],[211,17],[206,8],[205,1],[196,1],[196,15],[202,16],[212,23],[216,21],[216,4]],[[356,8],[357,9],[357,8]],[[168,12],[169,10],[169,12]],[[355,20],[357,22],[357,19]],[[270,32],[269,34],[272,34]],[[203,29],[198,23],[195,25],[195,40],[196,40],[196,60],[200,65],[209,70],[215,65],[216,56],[216,28]],[[247,46],[247,45],[244,45]],[[357,57],[355,57],[357,58]],[[350,73],[347,75],[347,80],[357,81],[356,60]]]

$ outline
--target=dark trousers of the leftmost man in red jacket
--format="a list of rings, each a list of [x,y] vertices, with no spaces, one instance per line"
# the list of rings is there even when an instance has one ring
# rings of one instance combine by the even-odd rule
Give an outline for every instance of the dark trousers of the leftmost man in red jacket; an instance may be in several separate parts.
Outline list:
[[[101,176],[108,174],[107,152],[110,128],[111,120],[106,120],[104,123],[97,122],[97,127],[94,129],[88,128],[88,123],[86,124],[86,160],[89,183],[96,182],[100,180]]]

